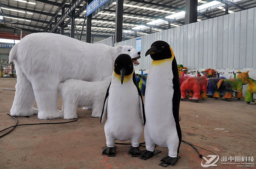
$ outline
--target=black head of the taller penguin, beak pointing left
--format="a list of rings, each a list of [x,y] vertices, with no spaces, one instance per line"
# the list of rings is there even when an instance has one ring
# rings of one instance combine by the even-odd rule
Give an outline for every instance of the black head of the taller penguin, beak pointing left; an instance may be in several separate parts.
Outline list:
[[[165,41],[155,41],[146,51],[145,56],[150,54],[153,60],[169,59],[172,57],[171,47]]]

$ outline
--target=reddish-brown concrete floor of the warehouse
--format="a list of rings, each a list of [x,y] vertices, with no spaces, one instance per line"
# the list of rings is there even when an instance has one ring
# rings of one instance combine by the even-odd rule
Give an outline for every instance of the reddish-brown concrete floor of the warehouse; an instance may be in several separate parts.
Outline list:
[[[0,78],[0,130],[15,124],[7,116],[10,113],[15,91],[16,78]],[[58,109],[62,102],[59,99]],[[36,107],[36,104],[35,104]],[[0,138],[1,169],[162,169],[160,159],[168,155],[167,148],[156,147],[162,152],[143,161],[128,154],[129,145],[117,145],[116,157],[101,155],[105,147],[104,124],[99,118],[91,117],[91,110],[78,109],[78,121],[67,124],[18,126],[8,135]],[[206,98],[194,103],[181,101],[180,125],[182,140],[205,148],[198,151],[207,157],[254,156],[256,157],[256,105],[247,105],[244,99],[230,102]],[[37,115],[30,118],[17,117],[19,123],[65,122],[68,120],[40,120]],[[0,133],[4,134],[4,132]],[[118,142],[118,141],[117,141]],[[129,142],[129,141],[127,141]],[[141,142],[144,142],[142,136]],[[144,147],[141,147],[144,150]],[[181,143],[181,158],[172,169],[203,168],[202,158],[185,143]],[[203,163],[205,163],[204,161]],[[221,164],[218,167],[238,168],[236,165]],[[241,168],[241,167],[240,167]],[[255,167],[250,167],[255,168]]]

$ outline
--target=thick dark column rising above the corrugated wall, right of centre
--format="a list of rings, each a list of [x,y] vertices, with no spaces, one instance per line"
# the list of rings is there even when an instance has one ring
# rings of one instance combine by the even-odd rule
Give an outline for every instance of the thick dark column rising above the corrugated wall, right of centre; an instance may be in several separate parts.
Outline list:
[[[185,24],[197,22],[197,0],[185,0]]]

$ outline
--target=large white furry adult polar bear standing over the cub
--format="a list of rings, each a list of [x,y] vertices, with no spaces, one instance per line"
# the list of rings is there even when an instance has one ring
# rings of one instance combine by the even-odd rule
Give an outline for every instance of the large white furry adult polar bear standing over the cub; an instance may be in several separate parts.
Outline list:
[[[132,46],[91,44],[52,33],[25,36],[9,56],[17,73],[11,115],[38,113],[40,119],[63,117],[57,109],[59,83],[70,78],[101,81],[112,75],[114,60],[122,53],[129,54],[135,65],[139,64],[136,59],[140,52]],[[33,108],[35,100],[38,110]]]

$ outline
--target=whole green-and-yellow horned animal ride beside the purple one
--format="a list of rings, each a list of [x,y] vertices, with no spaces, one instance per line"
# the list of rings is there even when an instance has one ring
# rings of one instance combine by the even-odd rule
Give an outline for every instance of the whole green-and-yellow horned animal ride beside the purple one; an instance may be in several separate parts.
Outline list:
[[[249,77],[248,72],[240,72],[238,71],[239,75],[234,79],[222,79],[218,82],[218,84],[214,88],[213,97],[215,99],[220,98],[220,91],[224,90],[225,95],[222,98],[223,100],[230,101],[233,98],[232,92],[235,92],[235,97],[240,100],[243,98],[242,96],[242,85],[248,84],[244,77]]]

